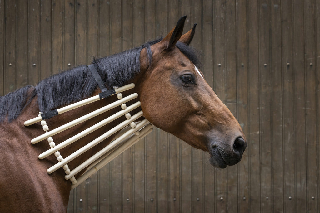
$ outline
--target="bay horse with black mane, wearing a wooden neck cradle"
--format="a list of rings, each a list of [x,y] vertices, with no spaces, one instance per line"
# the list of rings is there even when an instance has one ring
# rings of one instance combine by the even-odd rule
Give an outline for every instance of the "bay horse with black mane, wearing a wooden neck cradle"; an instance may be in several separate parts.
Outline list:
[[[218,168],[238,163],[247,146],[247,141],[230,110],[220,101],[204,80],[199,70],[200,60],[195,49],[189,46],[196,24],[183,34],[186,16],[164,38],[146,42],[140,47],[115,55],[93,58],[92,65],[108,89],[133,83],[131,93],[137,93],[132,102],[140,102],[133,110],[142,110],[143,118],[152,125],[172,133],[194,148],[209,152],[210,163]],[[27,86],[0,97],[0,209],[2,211],[65,212],[72,183],[64,178],[63,169],[48,174],[47,168],[56,164],[57,158],[50,155],[42,160],[39,153],[48,149],[48,143],[31,144],[30,141],[43,134],[43,125],[25,126],[26,120],[41,112],[76,103],[98,95],[100,87],[86,65],[60,72],[44,79],[36,86]],[[122,93],[130,94],[128,91]],[[74,118],[86,115],[113,103],[117,97],[110,96],[70,110],[68,115],[47,119],[50,128],[58,128]],[[57,134],[58,144],[70,135],[102,121],[111,109],[95,118],[88,119]],[[59,117],[59,118],[58,118]],[[99,137],[113,126],[124,121],[119,118],[108,123],[60,150],[68,156],[80,147]],[[103,140],[90,148],[81,158],[68,163],[74,168],[108,145],[116,136]],[[75,175],[78,178],[82,173]]]

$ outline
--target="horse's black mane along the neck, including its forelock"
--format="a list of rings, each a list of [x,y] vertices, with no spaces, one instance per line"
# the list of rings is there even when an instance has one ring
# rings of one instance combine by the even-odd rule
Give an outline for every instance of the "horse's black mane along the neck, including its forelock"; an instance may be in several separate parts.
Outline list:
[[[108,57],[93,59],[92,64],[95,65],[108,88],[123,86],[140,72],[141,49],[147,49],[148,62],[151,64],[150,46],[161,40],[162,38]],[[200,66],[195,49],[181,42],[177,42],[176,46],[197,67]],[[35,87],[26,86],[0,97],[0,122],[6,117],[9,122],[16,119],[28,105],[26,103],[28,97],[31,101],[37,95],[39,111],[47,112],[61,105],[83,100],[92,95],[97,87],[86,65],[60,72],[40,81]]]

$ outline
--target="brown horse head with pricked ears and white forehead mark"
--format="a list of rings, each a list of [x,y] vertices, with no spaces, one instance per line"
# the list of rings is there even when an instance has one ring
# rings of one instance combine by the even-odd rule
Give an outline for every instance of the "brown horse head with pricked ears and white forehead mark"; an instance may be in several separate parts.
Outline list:
[[[208,151],[210,163],[225,168],[241,160],[247,146],[242,128],[221,102],[203,73],[181,51],[194,36],[194,27],[182,35],[186,17],[160,42],[150,46],[151,61],[140,53],[138,84],[144,117],[191,146]],[[152,89],[150,89],[152,88]]]

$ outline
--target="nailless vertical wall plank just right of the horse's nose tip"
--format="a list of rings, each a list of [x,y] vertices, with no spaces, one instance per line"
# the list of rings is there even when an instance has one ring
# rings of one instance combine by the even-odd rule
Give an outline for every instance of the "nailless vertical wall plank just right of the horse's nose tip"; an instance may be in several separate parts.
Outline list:
[[[249,133],[248,155],[250,179],[250,212],[260,212],[262,199],[260,174],[260,117],[259,117],[259,14],[258,2],[248,3],[248,74],[249,74]]]

